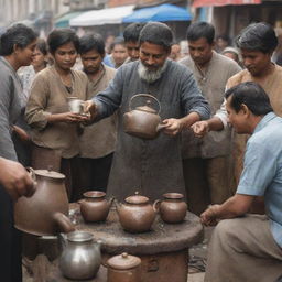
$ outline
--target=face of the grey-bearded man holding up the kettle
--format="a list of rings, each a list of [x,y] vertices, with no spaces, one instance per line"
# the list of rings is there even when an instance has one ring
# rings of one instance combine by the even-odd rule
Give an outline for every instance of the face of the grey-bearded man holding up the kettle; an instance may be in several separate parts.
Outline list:
[[[140,61],[149,70],[155,72],[164,65],[170,53],[164,46],[143,42],[140,46]]]

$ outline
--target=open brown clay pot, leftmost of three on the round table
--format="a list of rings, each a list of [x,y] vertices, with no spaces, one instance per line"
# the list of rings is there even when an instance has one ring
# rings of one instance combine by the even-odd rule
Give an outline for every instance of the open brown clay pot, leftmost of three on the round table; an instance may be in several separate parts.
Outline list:
[[[85,221],[95,223],[106,220],[111,203],[105,198],[106,193],[101,191],[88,191],[84,193],[85,199],[79,200],[80,213]]]

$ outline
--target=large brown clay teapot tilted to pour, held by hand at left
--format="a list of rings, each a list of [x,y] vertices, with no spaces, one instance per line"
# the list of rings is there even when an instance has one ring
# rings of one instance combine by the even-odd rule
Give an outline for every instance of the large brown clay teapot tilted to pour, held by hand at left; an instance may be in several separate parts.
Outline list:
[[[14,204],[15,227],[33,235],[55,235],[75,230],[68,215],[65,175],[51,170],[29,169],[36,182],[32,197],[20,197]]]

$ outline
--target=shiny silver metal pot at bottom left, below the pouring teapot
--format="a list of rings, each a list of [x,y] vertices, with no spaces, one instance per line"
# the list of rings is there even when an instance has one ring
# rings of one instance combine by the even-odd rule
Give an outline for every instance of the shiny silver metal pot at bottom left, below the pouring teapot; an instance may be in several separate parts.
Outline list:
[[[86,231],[74,231],[58,236],[63,252],[58,268],[64,276],[80,281],[96,275],[101,263],[100,241]]]

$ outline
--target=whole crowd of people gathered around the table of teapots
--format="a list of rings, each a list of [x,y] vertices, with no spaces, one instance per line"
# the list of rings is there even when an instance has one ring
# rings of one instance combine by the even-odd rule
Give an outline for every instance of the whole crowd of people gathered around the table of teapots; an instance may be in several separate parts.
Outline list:
[[[69,202],[89,189],[118,200],[135,191],[152,200],[182,193],[204,225],[220,220],[205,281],[282,279],[282,67],[271,61],[278,36],[254,23],[229,46],[213,24],[194,22],[186,39],[183,55],[160,22],[132,23],[110,46],[70,29],[53,30],[46,42],[23,24],[1,35],[3,281],[21,281],[12,206],[36,189],[23,166],[66,175]],[[163,129],[153,140],[123,130],[137,94],[160,101]],[[69,109],[74,97],[83,113]]]

